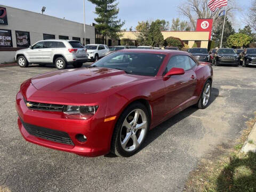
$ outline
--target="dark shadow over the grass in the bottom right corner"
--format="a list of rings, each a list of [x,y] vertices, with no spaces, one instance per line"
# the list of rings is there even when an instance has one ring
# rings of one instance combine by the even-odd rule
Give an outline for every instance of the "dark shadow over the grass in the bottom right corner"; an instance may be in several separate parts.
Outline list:
[[[256,191],[256,154],[230,158],[217,179],[217,192],[224,191]]]

